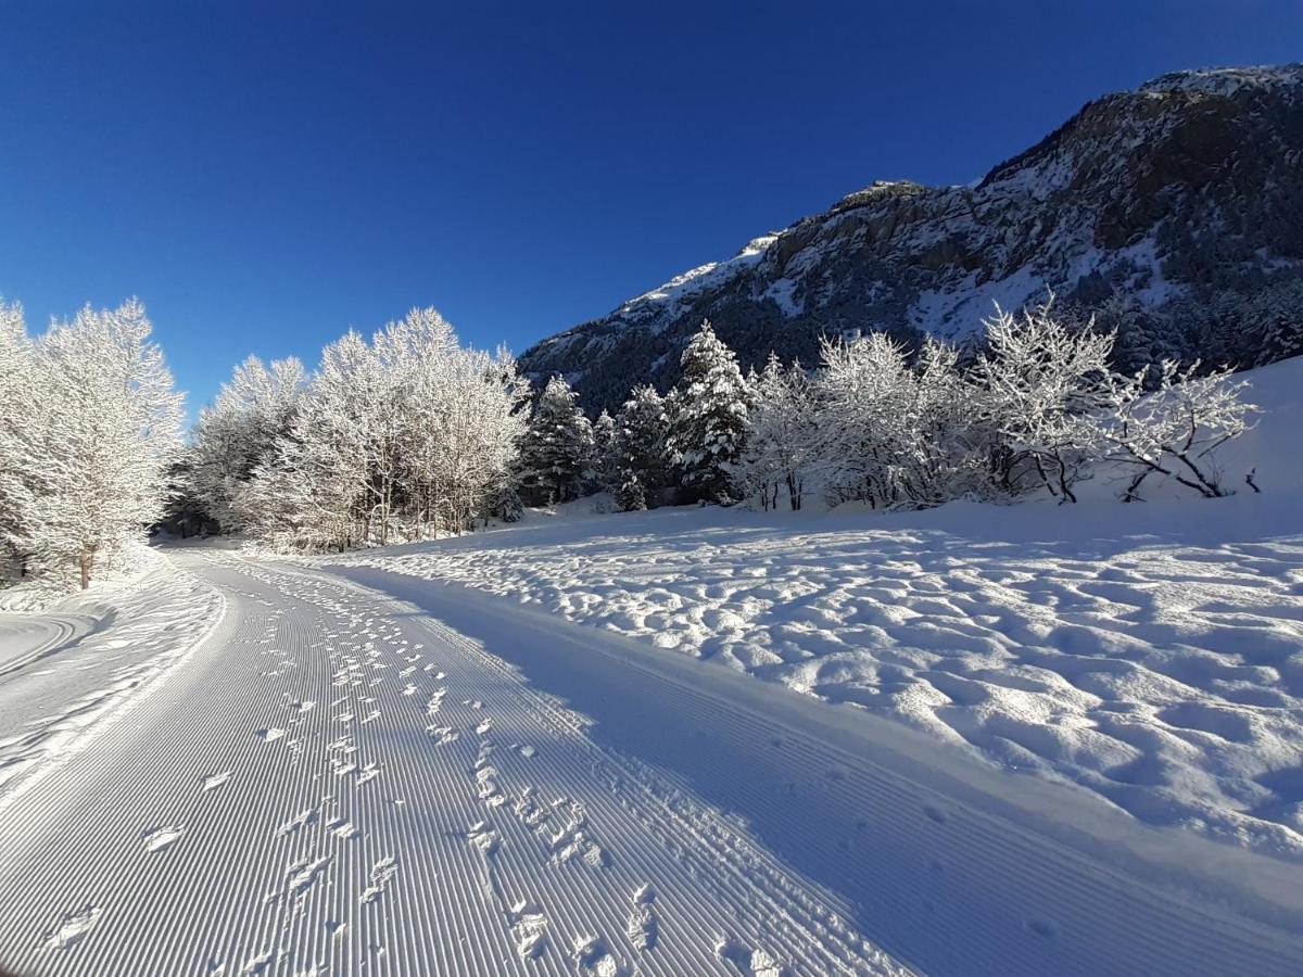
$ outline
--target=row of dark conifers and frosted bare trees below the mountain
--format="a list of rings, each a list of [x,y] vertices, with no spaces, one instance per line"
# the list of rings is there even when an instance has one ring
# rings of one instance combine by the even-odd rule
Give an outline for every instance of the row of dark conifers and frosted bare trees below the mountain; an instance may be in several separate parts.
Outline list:
[[[1127,500],[1156,477],[1230,494],[1214,451],[1248,427],[1246,384],[1175,361],[1121,374],[1114,341],[1045,305],[998,313],[967,362],[942,343],[911,354],[874,333],[825,341],[814,370],[771,357],[744,376],[704,323],[679,384],[665,397],[636,388],[614,418],[590,425],[566,382],[550,380],[523,483],[534,503],[607,490],[622,509],[698,499],[800,509],[812,498],[926,508],[1035,492],[1076,502],[1078,483],[1108,462]]]

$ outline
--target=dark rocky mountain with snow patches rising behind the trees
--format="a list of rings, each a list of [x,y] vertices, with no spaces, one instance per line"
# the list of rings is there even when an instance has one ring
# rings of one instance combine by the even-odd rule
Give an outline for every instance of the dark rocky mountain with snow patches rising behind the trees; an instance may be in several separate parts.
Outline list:
[[[743,361],[883,330],[964,341],[1053,289],[1119,328],[1122,366],[1303,352],[1303,65],[1178,72],[1088,103],[973,186],[877,182],[520,362],[590,409],[665,388],[701,319]]]

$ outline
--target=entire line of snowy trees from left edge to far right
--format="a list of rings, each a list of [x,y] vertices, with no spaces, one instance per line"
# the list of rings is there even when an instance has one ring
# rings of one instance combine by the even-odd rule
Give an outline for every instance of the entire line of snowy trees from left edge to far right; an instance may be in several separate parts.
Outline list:
[[[1250,425],[1246,384],[1175,361],[1118,373],[1115,337],[1042,306],[995,315],[963,361],[869,335],[825,341],[813,370],[771,357],[743,375],[705,322],[671,391],[635,387],[590,421],[563,378],[530,391],[504,350],[468,349],[418,309],[370,340],[349,332],[311,374],[248,360],[182,448],[181,396],[139,302],[38,339],[0,302],[0,556],[86,586],[164,518],[343,550],[599,491],[625,511],[1075,502],[1101,464],[1128,500],[1156,477],[1233,491],[1214,451]]]

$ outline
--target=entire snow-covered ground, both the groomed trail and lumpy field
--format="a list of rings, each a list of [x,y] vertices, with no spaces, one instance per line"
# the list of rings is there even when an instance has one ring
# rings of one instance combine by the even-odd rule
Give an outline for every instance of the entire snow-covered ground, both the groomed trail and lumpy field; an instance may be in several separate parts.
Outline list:
[[[1251,379],[1260,495],[589,499],[0,616],[0,960],[1298,973],[1303,360]]]

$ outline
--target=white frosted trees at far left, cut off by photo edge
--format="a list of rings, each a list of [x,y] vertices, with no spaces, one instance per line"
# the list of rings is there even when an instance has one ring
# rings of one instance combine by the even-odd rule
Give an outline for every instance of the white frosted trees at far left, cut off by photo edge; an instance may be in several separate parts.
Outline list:
[[[149,337],[134,300],[39,339],[0,302],[0,577],[86,588],[163,516],[182,409]]]

